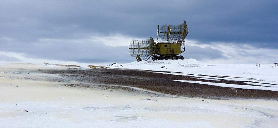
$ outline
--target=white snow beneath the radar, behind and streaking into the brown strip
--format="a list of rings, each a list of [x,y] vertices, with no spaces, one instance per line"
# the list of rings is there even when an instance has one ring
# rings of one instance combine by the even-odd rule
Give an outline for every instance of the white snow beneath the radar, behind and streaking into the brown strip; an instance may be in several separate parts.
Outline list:
[[[248,84],[266,87],[179,80],[181,82],[201,83],[221,87],[278,91],[278,66],[274,64],[260,64],[259,67],[256,64],[204,64],[196,59],[179,59],[113,64],[109,67],[153,70],[151,72],[165,71],[156,73],[194,76],[204,80],[247,81]]]

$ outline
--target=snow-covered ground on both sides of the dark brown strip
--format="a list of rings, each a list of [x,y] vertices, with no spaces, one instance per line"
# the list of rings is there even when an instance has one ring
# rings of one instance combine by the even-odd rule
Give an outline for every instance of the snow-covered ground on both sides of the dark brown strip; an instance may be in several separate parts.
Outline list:
[[[272,75],[277,76],[278,67],[214,66],[199,62],[191,64],[191,62],[188,60],[133,62],[116,64],[113,67],[122,65],[119,67],[178,71],[197,76],[205,74],[243,77],[227,77],[229,80],[245,77],[272,83],[276,83],[277,80]],[[166,66],[167,69],[161,69],[162,66]],[[66,87],[63,85],[79,84],[80,81],[64,80],[62,76],[55,74],[28,73],[38,69],[66,69],[66,67],[35,64],[0,66],[1,127],[277,127],[278,125],[277,100],[214,100],[177,97],[156,92],[135,93],[113,89]],[[59,82],[60,79],[64,81]]]

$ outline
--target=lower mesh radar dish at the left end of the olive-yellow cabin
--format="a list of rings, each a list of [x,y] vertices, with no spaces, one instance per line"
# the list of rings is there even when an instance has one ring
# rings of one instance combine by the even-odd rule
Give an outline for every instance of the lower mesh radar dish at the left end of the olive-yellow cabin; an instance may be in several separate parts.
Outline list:
[[[148,40],[133,40],[129,43],[129,50],[131,56],[136,57],[140,55],[146,59],[147,57],[152,56],[155,50],[155,42],[151,37]]]

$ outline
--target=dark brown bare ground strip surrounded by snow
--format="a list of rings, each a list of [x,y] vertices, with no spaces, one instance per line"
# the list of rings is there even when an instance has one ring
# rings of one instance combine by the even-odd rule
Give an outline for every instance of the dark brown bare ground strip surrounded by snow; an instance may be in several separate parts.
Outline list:
[[[173,80],[195,80],[214,83],[229,83],[250,85],[242,81],[203,80],[191,78],[193,76],[179,76],[162,73],[151,73],[142,70],[119,69],[68,69],[68,70],[40,70],[43,73],[60,74],[66,78],[89,84],[124,85],[142,89],[173,94],[185,97],[202,97],[212,99],[250,98],[250,99],[278,99],[278,92],[270,90],[251,90],[230,87],[219,87],[197,83],[185,83]],[[221,77],[219,77],[221,79]],[[260,82],[260,81],[258,81]],[[258,86],[258,85],[253,85]]]

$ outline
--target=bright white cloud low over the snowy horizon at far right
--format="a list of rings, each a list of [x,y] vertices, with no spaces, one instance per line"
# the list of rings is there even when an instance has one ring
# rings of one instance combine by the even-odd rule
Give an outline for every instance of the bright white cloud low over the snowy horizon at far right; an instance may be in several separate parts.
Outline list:
[[[273,64],[277,62],[278,49],[256,48],[249,44],[210,43],[210,47],[222,53],[224,58],[204,59],[207,63],[221,64]]]

